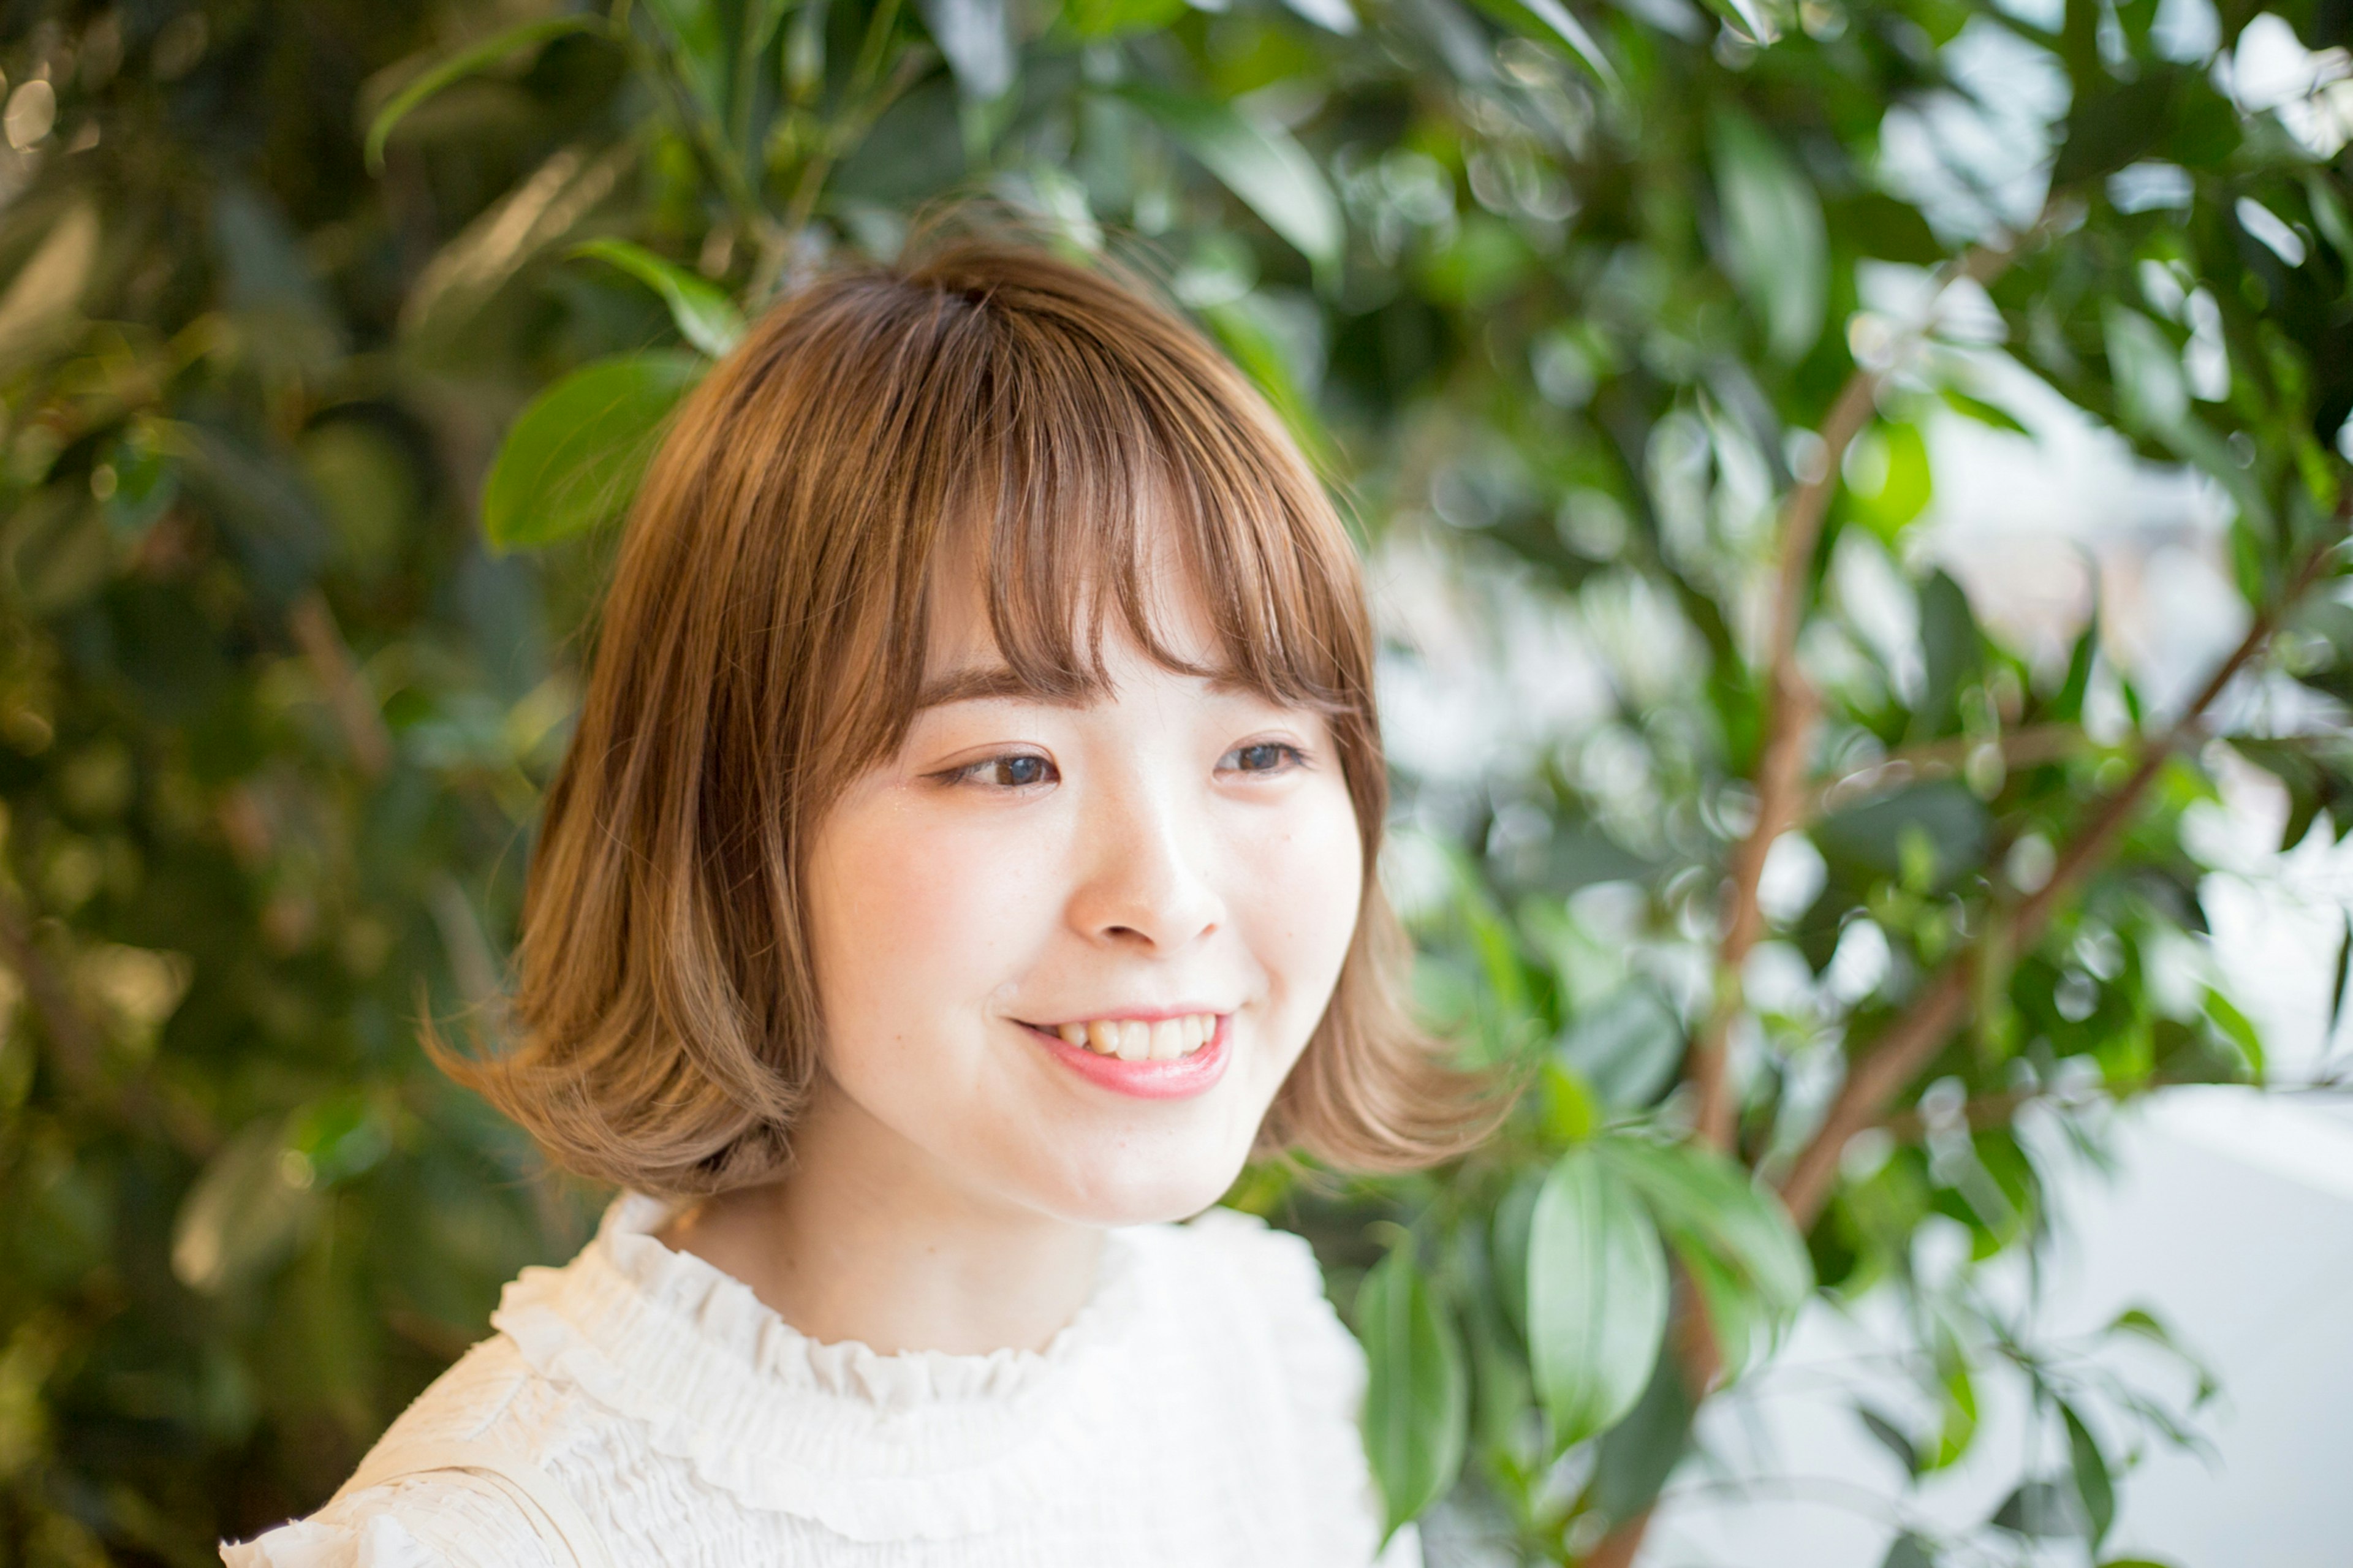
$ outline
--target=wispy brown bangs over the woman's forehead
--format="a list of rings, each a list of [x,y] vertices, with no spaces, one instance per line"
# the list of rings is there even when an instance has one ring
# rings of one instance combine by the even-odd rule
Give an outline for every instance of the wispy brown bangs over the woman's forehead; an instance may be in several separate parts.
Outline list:
[[[866,692],[847,699],[864,720],[852,751],[873,760],[896,746],[922,706],[946,584],[979,596],[1024,695],[1104,692],[1104,636],[1118,626],[1165,669],[1282,706],[1355,711],[1348,570],[1318,558],[1322,530],[1301,492],[1315,480],[1247,403],[1176,377],[1144,344],[948,299],[925,323],[932,341],[904,356],[922,372],[899,471],[936,485],[918,480],[927,494],[906,497],[915,570],[896,629],[852,638],[880,655],[864,662]],[[1186,593],[1207,659],[1167,626]]]

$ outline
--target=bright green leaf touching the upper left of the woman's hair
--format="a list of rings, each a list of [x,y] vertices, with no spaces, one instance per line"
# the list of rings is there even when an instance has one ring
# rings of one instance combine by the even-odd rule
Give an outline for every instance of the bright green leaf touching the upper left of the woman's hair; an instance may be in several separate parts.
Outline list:
[[[532,398],[482,483],[492,549],[553,544],[626,511],[661,421],[706,365],[678,351],[621,353]]]

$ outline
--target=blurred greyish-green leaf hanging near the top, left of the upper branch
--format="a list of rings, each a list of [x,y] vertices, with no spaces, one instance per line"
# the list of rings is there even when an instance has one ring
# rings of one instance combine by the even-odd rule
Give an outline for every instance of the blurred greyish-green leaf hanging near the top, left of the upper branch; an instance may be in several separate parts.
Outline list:
[[[1831,242],[1821,198],[1781,144],[1755,120],[1722,111],[1708,148],[1722,212],[1725,271],[1765,318],[1777,360],[1798,360],[1821,337],[1831,287]]]

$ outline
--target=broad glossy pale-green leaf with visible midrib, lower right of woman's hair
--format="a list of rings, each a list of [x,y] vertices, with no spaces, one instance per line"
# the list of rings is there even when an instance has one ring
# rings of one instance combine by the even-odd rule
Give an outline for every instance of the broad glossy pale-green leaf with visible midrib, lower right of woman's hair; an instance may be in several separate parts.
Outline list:
[[[1666,1335],[1666,1250],[1642,1201],[1591,1144],[1537,1194],[1527,1340],[1553,1443],[1612,1427],[1649,1382]]]

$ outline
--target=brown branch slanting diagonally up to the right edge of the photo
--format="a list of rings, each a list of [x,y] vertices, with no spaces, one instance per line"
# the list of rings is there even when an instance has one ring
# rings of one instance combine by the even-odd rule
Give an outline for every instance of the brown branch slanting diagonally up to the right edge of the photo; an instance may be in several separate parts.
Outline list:
[[[2014,951],[2026,951],[2042,935],[2052,913],[2059,911],[2059,902],[2075,890],[2092,866],[2106,859],[2174,751],[2205,735],[2207,709],[2214,706],[2231,680],[2264,650],[2271,633],[2278,631],[2280,619],[2320,577],[2341,537],[2344,513],[2339,513],[2337,537],[2306,556],[2280,596],[2254,617],[2238,647],[2214,666],[2214,673],[2181,711],[2181,718],[2148,744],[2132,775],[2092,810],[2082,831],[2061,850],[2049,881],[2012,909],[2005,923],[2005,939]],[[1972,949],[1939,970],[1911,1008],[1880,1034],[1871,1052],[1847,1069],[1847,1081],[1831,1102],[1821,1130],[1814,1132],[1812,1142],[1807,1142],[1781,1180],[1781,1198],[1788,1203],[1800,1229],[1809,1227],[1828,1201],[1838,1175],[1838,1156],[1845,1151],[1847,1140],[1885,1116],[1887,1107],[1927,1069],[1953,1029],[1967,1017],[1977,963],[1979,954]]]

